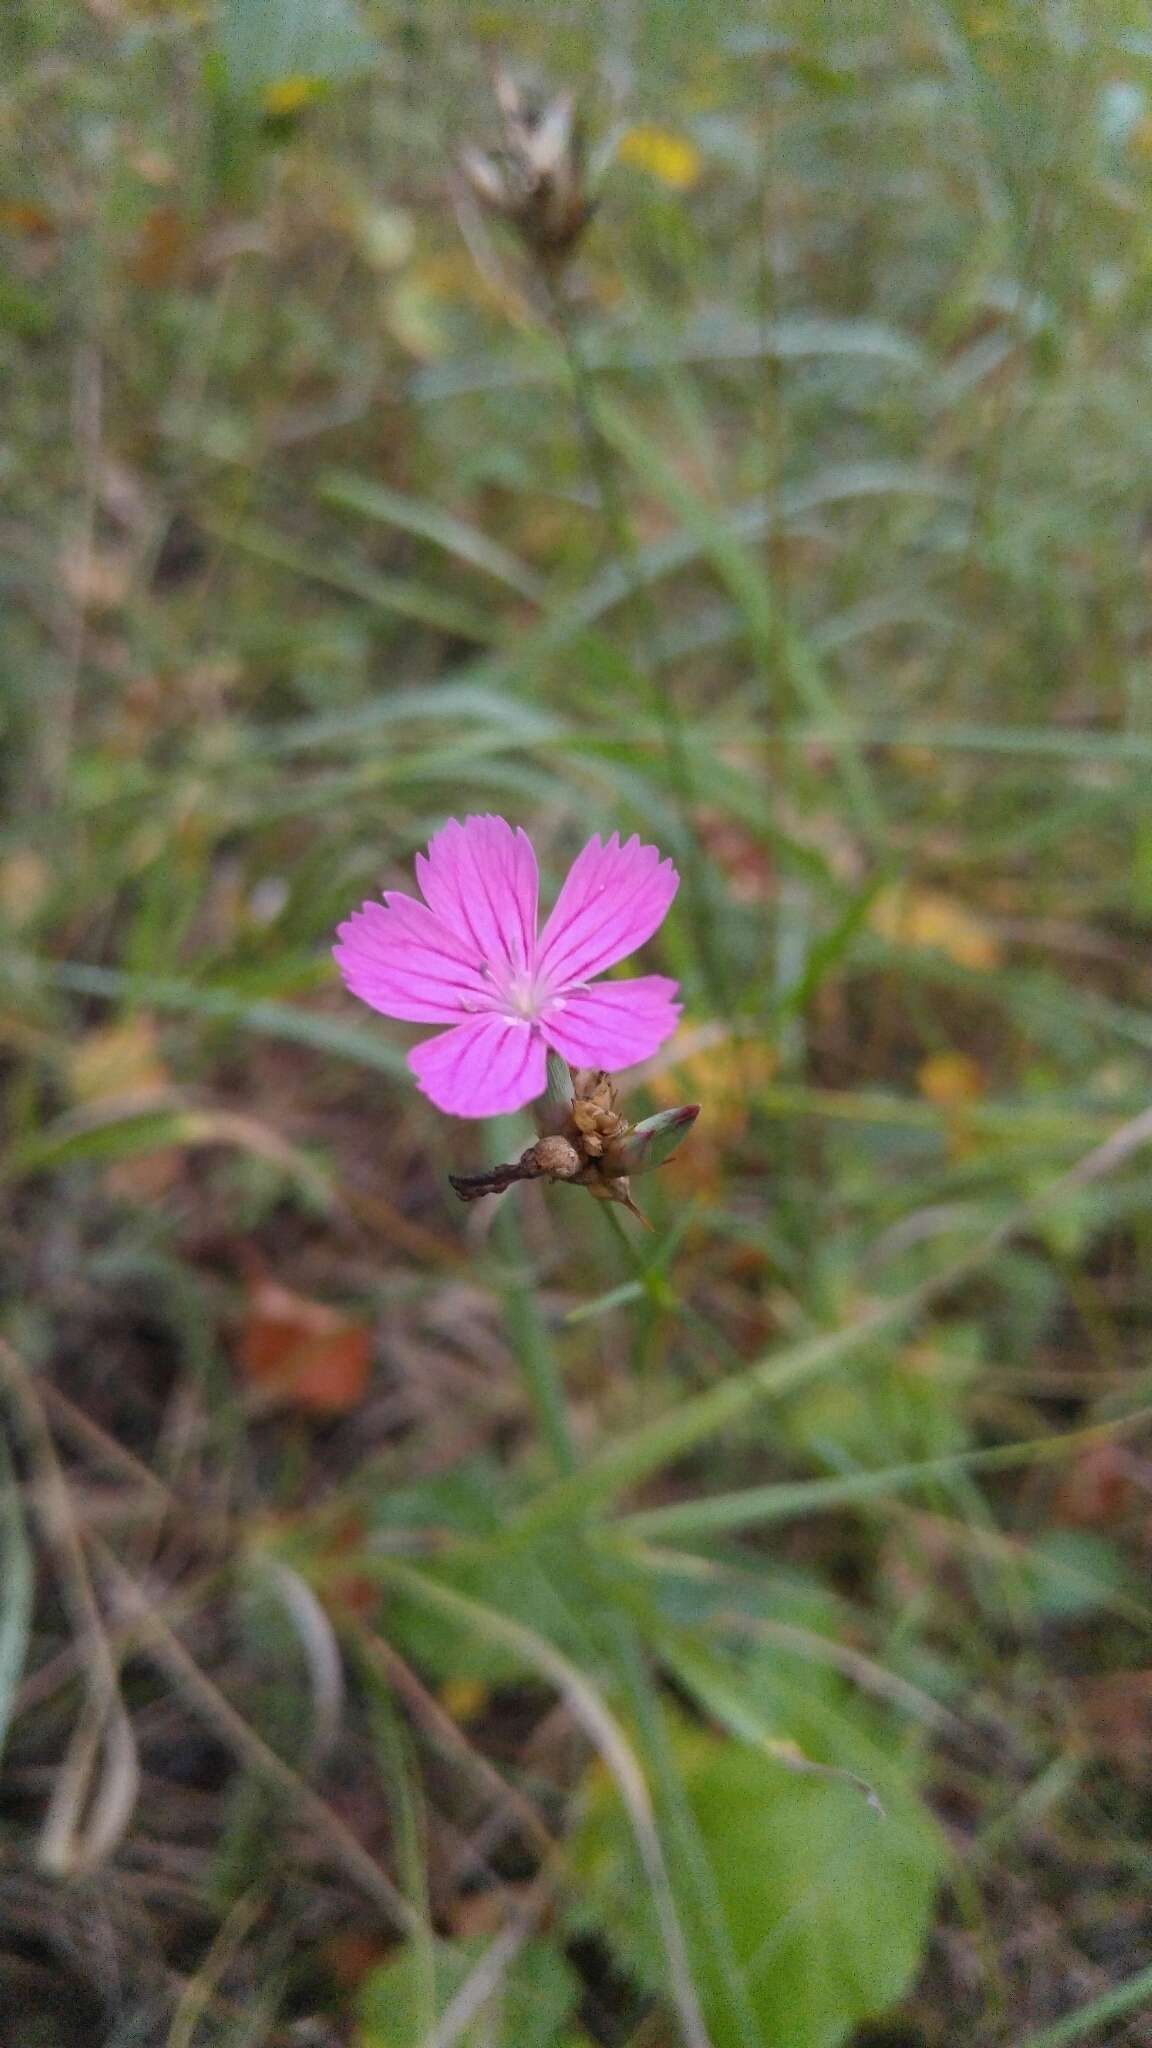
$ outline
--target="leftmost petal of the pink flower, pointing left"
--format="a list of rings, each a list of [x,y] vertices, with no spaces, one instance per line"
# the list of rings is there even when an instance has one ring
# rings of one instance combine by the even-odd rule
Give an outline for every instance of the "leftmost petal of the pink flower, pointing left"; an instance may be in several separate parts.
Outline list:
[[[492,983],[476,946],[463,944],[416,897],[385,895],[338,926],[332,956],[344,985],[385,1018],[455,1024],[490,1010]]]

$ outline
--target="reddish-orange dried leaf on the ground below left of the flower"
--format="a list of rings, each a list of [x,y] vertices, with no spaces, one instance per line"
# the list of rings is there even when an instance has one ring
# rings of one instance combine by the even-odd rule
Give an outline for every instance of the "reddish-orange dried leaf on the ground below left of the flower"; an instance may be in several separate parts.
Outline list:
[[[244,1378],[307,1415],[346,1415],[371,1372],[371,1329],[277,1280],[248,1292],[238,1362]]]

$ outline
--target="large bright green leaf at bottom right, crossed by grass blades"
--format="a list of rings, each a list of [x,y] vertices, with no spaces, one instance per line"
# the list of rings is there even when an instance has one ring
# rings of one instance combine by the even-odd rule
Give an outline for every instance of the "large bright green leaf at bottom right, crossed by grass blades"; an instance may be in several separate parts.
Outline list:
[[[883,1778],[883,1817],[857,1784],[793,1776],[758,1749],[683,1729],[689,1808],[760,2040],[836,2048],[906,1991],[931,1925],[941,1843],[908,1784]],[[871,1747],[871,1745],[869,1745]],[[867,1776],[875,1780],[875,1757]],[[660,1946],[627,1823],[596,1786],[574,1841],[594,1923],[621,1960],[660,1987]],[[693,1942],[713,2048],[734,2048],[730,1987]]]

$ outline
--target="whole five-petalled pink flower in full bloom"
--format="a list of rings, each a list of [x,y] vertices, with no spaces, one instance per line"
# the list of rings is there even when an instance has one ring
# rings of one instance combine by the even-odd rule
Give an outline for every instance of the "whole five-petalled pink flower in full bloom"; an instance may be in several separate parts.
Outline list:
[[[664,922],[681,877],[654,846],[588,840],[539,936],[531,840],[502,817],[449,819],[416,854],[416,881],[422,903],[396,891],[365,903],[332,952],[385,1018],[453,1026],[408,1055],[439,1110],[519,1110],[543,1094],[547,1047],[615,1073],[676,1028],[666,975],[588,985]]]

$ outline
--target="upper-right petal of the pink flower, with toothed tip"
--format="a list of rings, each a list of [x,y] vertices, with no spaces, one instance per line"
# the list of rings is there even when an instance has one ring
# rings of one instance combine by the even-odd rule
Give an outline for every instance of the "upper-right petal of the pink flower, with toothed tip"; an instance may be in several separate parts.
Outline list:
[[[635,952],[664,922],[681,887],[670,860],[633,836],[588,840],[568,870],[556,909],[539,934],[537,975],[553,989],[603,975]]]

